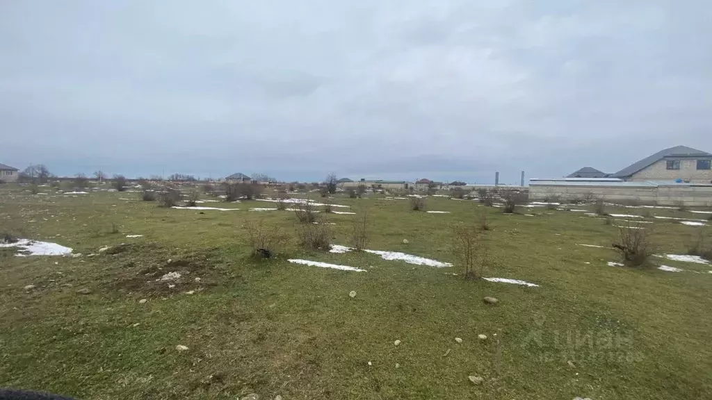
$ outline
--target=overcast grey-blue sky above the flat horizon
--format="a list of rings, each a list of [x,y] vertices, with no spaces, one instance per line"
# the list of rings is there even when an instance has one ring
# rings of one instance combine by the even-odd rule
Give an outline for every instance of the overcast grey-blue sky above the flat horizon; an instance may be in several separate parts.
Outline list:
[[[712,152],[706,0],[0,1],[0,162],[515,183]]]

